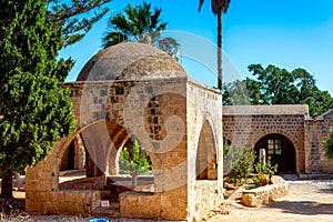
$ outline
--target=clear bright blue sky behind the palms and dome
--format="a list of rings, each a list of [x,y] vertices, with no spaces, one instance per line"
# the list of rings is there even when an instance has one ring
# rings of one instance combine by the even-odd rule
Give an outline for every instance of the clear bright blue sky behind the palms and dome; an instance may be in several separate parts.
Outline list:
[[[162,9],[169,22],[167,36],[180,39],[181,63],[192,78],[212,85],[215,77],[216,18],[211,1],[198,13],[199,0],[147,0]],[[85,38],[60,56],[77,63],[67,81],[74,81],[84,63],[101,50],[107,19],[139,0],[113,0],[109,13]],[[223,16],[224,80],[250,77],[248,65],[275,64],[292,71],[304,68],[314,74],[321,90],[333,94],[332,0],[231,0]]]

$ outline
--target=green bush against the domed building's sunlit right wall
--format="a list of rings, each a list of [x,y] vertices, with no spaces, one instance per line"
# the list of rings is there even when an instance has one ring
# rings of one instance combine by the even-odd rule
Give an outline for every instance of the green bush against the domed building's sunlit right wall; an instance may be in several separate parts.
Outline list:
[[[230,182],[238,185],[243,178],[249,178],[253,169],[255,153],[248,145],[233,147],[224,150],[224,170],[229,170]]]

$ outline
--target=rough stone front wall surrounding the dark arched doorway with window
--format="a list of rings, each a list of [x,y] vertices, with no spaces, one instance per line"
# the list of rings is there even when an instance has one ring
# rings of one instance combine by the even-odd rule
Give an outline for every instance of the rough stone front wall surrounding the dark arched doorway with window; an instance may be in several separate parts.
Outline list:
[[[307,113],[306,105],[226,105],[223,107],[223,137],[232,144],[254,148],[268,134],[282,134],[295,148],[296,172],[304,172]]]

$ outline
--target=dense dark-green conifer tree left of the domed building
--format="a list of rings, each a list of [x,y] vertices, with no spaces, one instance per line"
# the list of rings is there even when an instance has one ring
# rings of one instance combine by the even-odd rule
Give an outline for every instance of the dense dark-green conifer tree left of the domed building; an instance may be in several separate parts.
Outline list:
[[[12,173],[43,160],[75,129],[69,90],[59,87],[60,28],[47,0],[0,1],[1,198],[12,198]]]

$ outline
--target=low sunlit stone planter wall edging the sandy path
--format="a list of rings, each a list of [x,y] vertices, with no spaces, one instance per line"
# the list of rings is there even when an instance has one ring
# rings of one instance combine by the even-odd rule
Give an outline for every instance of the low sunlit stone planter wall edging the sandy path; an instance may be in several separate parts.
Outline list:
[[[274,175],[270,185],[245,190],[242,192],[242,204],[256,208],[269,204],[272,200],[284,196],[289,193],[289,183],[281,176]]]

